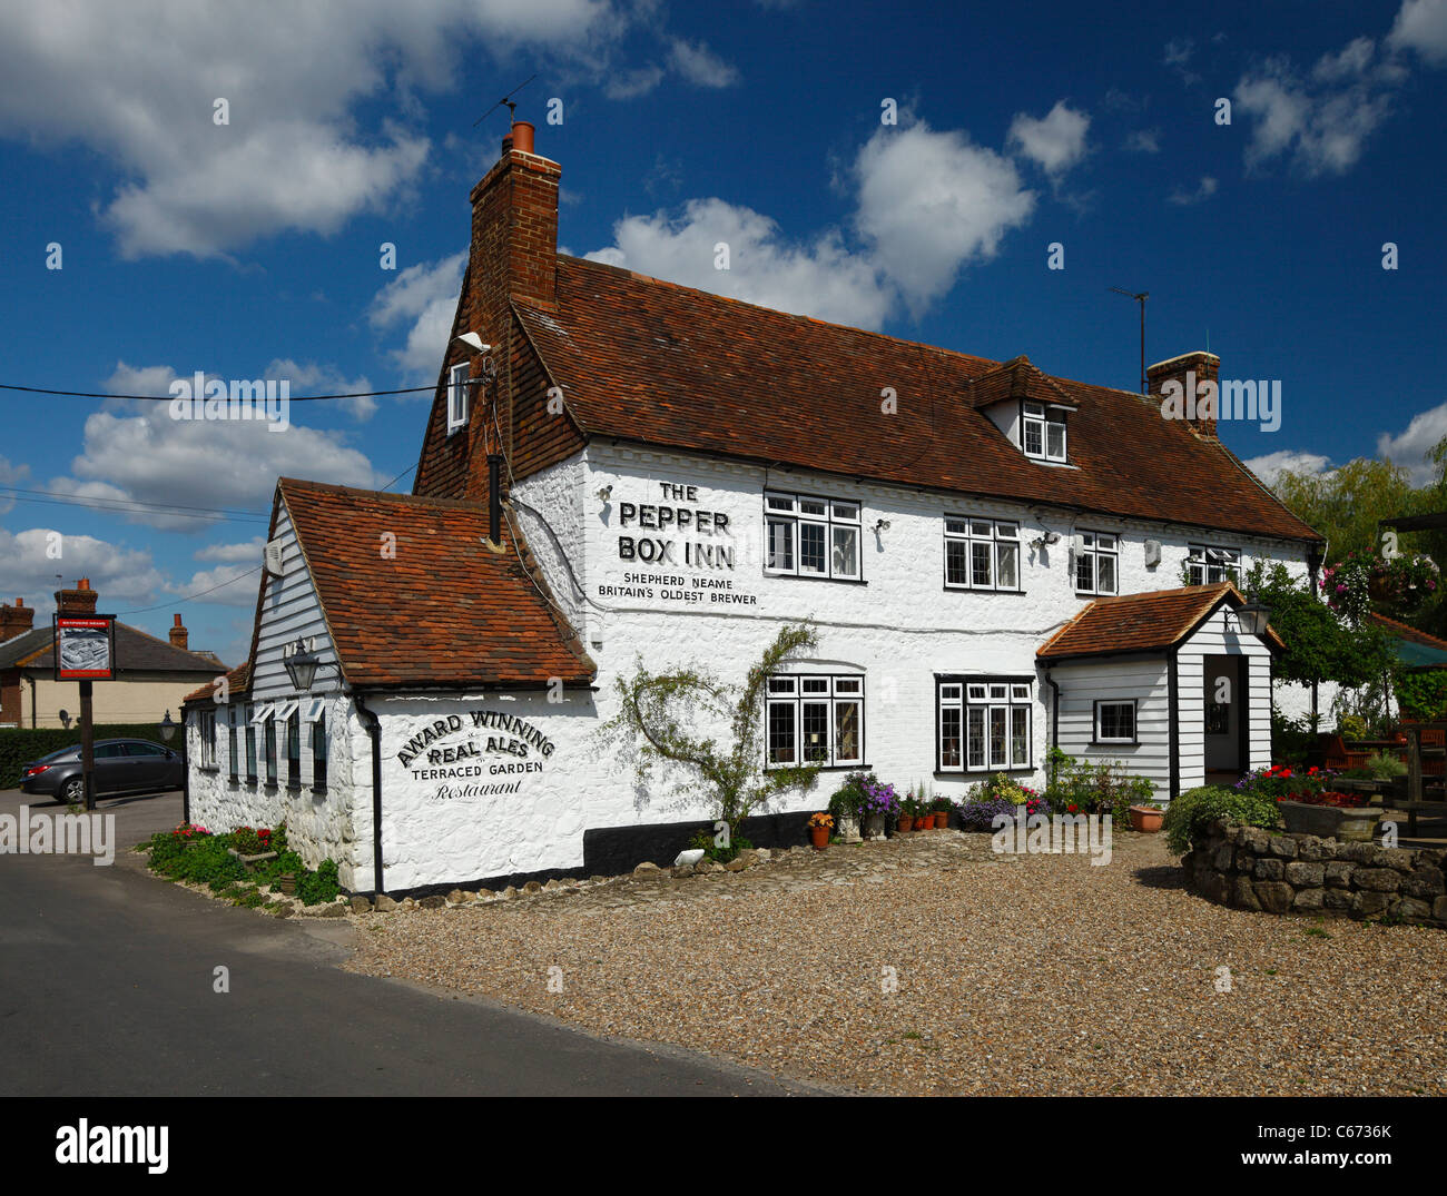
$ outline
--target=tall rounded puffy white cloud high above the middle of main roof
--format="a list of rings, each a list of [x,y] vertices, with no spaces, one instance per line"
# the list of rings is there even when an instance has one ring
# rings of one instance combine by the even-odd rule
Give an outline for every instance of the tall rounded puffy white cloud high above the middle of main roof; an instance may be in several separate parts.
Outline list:
[[[880,129],[854,165],[855,226],[910,309],[943,295],[962,266],[988,260],[1035,211],[1014,165],[961,132],[923,121]]]

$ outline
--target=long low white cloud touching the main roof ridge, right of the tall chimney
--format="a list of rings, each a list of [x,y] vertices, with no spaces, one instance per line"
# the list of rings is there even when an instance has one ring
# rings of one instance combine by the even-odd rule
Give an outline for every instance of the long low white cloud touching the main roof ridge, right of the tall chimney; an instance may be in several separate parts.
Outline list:
[[[719,242],[728,246],[728,270],[713,265]],[[767,215],[718,198],[690,200],[680,218],[655,213],[619,220],[614,244],[585,256],[751,304],[870,328],[883,323],[891,304],[875,268],[851,255],[836,233],[792,244]]]

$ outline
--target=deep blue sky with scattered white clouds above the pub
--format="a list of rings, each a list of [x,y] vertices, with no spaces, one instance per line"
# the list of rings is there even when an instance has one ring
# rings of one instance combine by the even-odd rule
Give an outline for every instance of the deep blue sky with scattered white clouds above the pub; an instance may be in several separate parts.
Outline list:
[[[537,74],[518,116],[563,166],[569,252],[1127,389],[1136,307],[1108,288],[1149,291],[1149,360],[1282,382],[1276,431],[1223,424],[1266,476],[1421,471],[1447,434],[1447,0],[266,7],[0,13],[0,382],[433,385],[506,129],[473,121]],[[276,476],[408,489],[427,408],[300,405],[284,432],[0,411],[0,597],[43,619],[88,576],[236,664]]]

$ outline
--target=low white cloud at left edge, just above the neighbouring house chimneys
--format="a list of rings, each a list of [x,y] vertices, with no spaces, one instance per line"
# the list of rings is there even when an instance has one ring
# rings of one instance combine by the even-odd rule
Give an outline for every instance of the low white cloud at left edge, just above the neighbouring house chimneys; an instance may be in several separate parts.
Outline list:
[[[59,532],[52,528],[27,528],[14,534],[0,528],[0,576],[6,578],[6,600],[23,597],[27,606],[35,607],[36,626],[55,609],[55,591],[74,584],[78,577],[90,578],[91,589],[100,593],[103,610],[146,605],[165,586],[146,551],[123,548],[91,535],[65,534],[59,539],[61,558],[55,560],[48,550],[56,542],[56,535]]]

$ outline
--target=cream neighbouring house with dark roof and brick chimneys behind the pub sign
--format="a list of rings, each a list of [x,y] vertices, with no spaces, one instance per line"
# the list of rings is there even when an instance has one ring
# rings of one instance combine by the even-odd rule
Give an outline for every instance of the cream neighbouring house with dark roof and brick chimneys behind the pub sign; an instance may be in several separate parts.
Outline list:
[[[82,577],[55,591],[62,615],[96,615],[100,594]],[[0,727],[61,727],[61,710],[80,717],[80,683],[55,680],[55,632],[33,626],[35,609],[16,599],[0,605]],[[211,652],[194,652],[190,632],[175,616],[169,642],[116,623],[116,677],[93,690],[96,723],[159,723],[181,713],[185,696],[203,680],[226,672]]]

